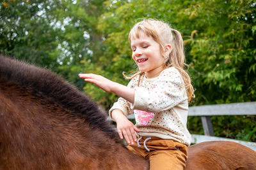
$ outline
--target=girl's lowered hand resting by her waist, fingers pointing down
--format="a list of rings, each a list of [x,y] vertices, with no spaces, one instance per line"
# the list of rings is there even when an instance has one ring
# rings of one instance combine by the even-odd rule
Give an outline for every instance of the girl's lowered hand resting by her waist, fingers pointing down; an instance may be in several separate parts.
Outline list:
[[[132,124],[132,122],[129,121],[126,117],[116,118],[116,128],[119,137],[121,139],[125,138],[127,143],[131,143],[131,145],[133,145],[133,142],[137,140],[135,131],[140,132],[140,130],[137,129],[137,127],[135,127],[134,124]]]

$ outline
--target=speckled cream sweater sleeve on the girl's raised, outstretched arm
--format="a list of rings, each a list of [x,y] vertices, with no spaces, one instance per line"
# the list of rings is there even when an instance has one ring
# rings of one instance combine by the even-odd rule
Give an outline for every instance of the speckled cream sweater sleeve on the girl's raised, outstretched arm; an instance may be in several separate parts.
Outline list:
[[[135,87],[132,110],[160,112],[188,99],[184,81],[177,69],[167,69],[150,87]]]

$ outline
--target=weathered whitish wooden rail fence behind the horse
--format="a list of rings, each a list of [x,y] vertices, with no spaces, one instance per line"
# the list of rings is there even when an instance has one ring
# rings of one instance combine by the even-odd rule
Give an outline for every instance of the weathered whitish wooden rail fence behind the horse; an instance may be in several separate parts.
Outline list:
[[[189,107],[188,116],[200,116],[204,127],[204,135],[191,134],[191,143],[201,143],[204,141],[234,141],[256,151],[256,143],[254,142],[240,141],[236,139],[220,138],[214,136],[211,123],[211,116],[224,115],[256,115],[256,102],[211,104],[204,106]],[[134,119],[134,115],[129,115],[128,118]],[[256,122],[252,122],[252,124],[254,124],[254,126],[256,127]]]

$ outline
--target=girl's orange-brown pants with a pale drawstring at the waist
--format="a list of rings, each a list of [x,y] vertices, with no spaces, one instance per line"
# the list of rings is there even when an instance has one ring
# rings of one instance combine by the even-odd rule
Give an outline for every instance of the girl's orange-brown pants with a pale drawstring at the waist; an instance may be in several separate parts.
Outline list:
[[[127,146],[132,152],[141,155],[144,159],[149,159],[150,170],[164,169],[184,169],[188,158],[188,146],[173,141],[172,139],[160,139],[152,137],[142,137],[137,143]],[[146,147],[144,146],[144,141]]]

